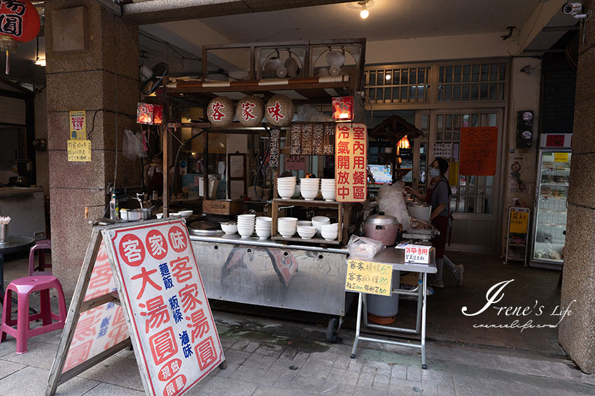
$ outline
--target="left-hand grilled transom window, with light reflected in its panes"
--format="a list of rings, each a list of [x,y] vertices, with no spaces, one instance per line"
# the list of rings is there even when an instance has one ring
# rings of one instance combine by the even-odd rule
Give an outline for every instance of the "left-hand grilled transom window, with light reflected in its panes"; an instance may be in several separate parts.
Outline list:
[[[364,78],[367,98],[372,104],[429,101],[429,67],[368,68]]]

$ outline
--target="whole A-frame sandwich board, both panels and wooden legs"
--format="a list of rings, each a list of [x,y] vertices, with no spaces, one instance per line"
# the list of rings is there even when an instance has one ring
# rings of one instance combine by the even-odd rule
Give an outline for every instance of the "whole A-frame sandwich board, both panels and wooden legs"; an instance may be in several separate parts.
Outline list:
[[[151,396],[183,395],[225,360],[182,219],[94,228],[46,395],[131,342]]]

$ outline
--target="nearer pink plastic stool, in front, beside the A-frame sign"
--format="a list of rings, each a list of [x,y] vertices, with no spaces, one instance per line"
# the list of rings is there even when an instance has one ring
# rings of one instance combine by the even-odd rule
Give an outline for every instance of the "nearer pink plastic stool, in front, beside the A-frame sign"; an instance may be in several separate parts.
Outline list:
[[[50,306],[50,288],[58,291],[59,315],[52,313]],[[29,316],[29,295],[39,291],[41,297],[41,309],[38,314]],[[12,293],[18,295],[17,320],[10,318],[10,305]],[[29,329],[29,322],[41,319],[43,325],[38,328]],[[52,320],[57,322],[52,323]],[[66,302],[62,285],[56,277],[51,275],[39,275],[15,279],[6,288],[4,296],[4,307],[2,311],[2,325],[0,327],[0,342],[6,341],[6,335],[17,339],[17,353],[27,352],[27,340],[36,335],[44,334],[53,330],[64,328],[66,321]],[[17,328],[13,328],[17,325]]]

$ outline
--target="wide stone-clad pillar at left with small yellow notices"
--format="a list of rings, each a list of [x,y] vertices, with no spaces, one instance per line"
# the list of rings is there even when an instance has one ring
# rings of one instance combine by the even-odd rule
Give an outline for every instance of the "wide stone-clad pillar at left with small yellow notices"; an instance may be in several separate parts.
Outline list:
[[[52,263],[71,295],[91,235],[85,207],[90,219],[104,217],[116,155],[116,183],[140,185],[139,161],[122,156],[139,100],[139,27],[97,1],[55,0],[46,3],[45,34]],[[90,162],[67,161],[71,110],[86,110]]]

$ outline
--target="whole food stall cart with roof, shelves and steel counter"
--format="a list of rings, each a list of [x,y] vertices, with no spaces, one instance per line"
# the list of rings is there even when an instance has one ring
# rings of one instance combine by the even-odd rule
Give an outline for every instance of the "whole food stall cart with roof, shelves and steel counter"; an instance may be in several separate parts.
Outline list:
[[[204,104],[219,98],[220,102],[216,109],[221,112],[223,112],[221,105],[228,105],[226,98],[237,100],[245,98],[246,95],[258,95],[266,103],[267,99],[279,93],[286,94],[295,105],[321,104],[330,108],[333,97],[353,96],[362,88],[365,39],[253,43],[203,48],[202,74],[209,77],[214,74],[209,70],[210,64],[207,61],[211,52],[217,53],[218,50],[239,50],[244,54],[247,52],[250,58],[247,63],[250,67],[246,71],[245,78],[225,78],[225,80],[209,78],[208,81],[202,79],[172,82],[165,79],[164,93],[167,96],[174,98],[183,96],[184,101]],[[336,64],[333,64],[334,62]],[[286,75],[289,78],[284,78]],[[239,105],[238,103],[237,107]],[[207,106],[208,112],[211,112],[211,107]],[[236,112],[235,115],[237,114]],[[318,155],[320,159],[316,163],[320,165],[316,169],[320,171],[323,168],[324,154],[334,155],[334,122],[330,120],[322,122],[319,119],[300,120],[300,122],[279,126],[270,122],[269,118],[267,123],[259,122],[251,126],[239,122],[221,125],[215,122],[216,118],[211,117],[212,115],[211,112],[208,123],[172,123],[167,127],[170,129],[190,127],[193,131],[200,130],[204,135],[202,166],[206,171],[209,169],[209,136],[215,133],[246,134],[248,138],[258,136],[259,141],[266,142],[267,154],[262,156],[262,162],[268,157],[266,181],[273,196],[271,200],[262,203],[262,210],[256,209],[263,214],[266,211],[269,217],[272,217],[272,237],[266,240],[258,237],[241,238],[239,235],[223,235],[219,222],[235,219],[236,214],[247,212],[248,207],[238,200],[216,200],[209,199],[211,197],[207,196],[203,198],[203,212],[207,214],[207,221],[190,222],[188,229],[208,297],[215,300],[328,314],[330,319],[327,339],[330,342],[335,341],[341,318],[353,298],[351,294],[346,297],[344,291],[345,260],[349,254],[345,246],[350,231],[353,232],[352,223],[357,218],[357,207],[320,199],[283,200],[276,195],[279,164],[270,166],[271,159],[282,163],[279,161],[282,158],[280,154],[304,155],[309,166],[312,166],[313,162],[310,156]],[[295,142],[291,136],[296,129],[311,131],[311,140],[306,138],[300,140],[304,145],[297,153],[294,151],[295,147],[290,144],[292,141]],[[325,131],[329,133],[322,138]],[[317,139],[315,135],[318,132],[321,135]],[[279,138],[271,139],[272,136]],[[330,138],[332,140],[329,140]],[[278,144],[276,148],[272,140],[276,140]],[[311,143],[308,144],[308,141]],[[308,146],[311,150],[309,152],[307,152]],[[269,156],[269,153],[274,154],[275,158]],[[232,198],[230,186],[234,182],[241,186],[242,178],[244,191],[246,191],[246,186],[252,184],[249,175],[260,173],[262,168],[262,163],[258,167],[260,161],[256,166],[249,164],[251,153],[247,154],[248,160],[237,159],[236,166],[232,164],[229,156],[230,153],[225,163],[227,183],[223,185],[228,187],[225,198]],[[238,172],[241,165],[244,165],[245,169]],[[206,183],[207,177],[203,177],[202,182]],[[203,190],[207,191],[206,185]],[[295,212],[302,211],[301,215],[304,215],[303,211],[306,210],[308,217],[314,214],[328,214],[335,219],[335,223],[340,223],[342,232],[336,240],[324,240],[321,237],[304,240],[297,237],[297,234],[295,237],[283,237],[277,233],[276,219],[291,208]],[[306,217],[301,219],[306,220]]]

